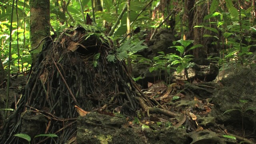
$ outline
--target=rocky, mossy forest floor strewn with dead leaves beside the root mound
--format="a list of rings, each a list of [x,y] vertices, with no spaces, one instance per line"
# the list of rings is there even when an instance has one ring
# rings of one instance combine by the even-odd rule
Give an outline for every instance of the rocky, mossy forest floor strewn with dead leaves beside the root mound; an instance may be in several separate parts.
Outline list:
[[[159,102],[159,107],[177,115],[170,117],[138,110],[131,117],[119,114],[118,109],[113,115],[90,112],[78,117],[76,140],[70,143],[255,144],[255,71],[230,69],[220,72],[216,79],[222,77],[226,78],[215,82],[177,81],[168,87],[162,81],[155,82],[154,87],[143,90],[144,94]],[[11,79],[12,107],[26,80],[26,76]],[[4,100],[5,95],[6,90],[1,89],[0,99]],[[2,126],[3,121],[0,128]]]

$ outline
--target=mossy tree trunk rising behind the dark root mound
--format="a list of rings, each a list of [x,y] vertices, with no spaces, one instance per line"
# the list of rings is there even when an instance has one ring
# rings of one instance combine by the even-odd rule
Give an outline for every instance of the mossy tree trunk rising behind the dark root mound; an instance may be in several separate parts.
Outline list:
[[[30,42],[31,48],[36,48],[40,41],[50,36],[50,0],[30,0]],[[31,52],[32,63],[42,50],[42,44]]]

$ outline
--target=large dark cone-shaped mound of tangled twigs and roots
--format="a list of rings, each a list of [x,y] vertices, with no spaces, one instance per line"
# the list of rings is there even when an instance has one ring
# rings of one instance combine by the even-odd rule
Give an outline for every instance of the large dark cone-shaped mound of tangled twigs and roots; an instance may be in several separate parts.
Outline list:
[[[7,144],[19,141],[13,135],[24,132],[22,116],[28,111],[31,117],[43,114],[48,121],[38,134],[58,135],[54,139],[37,138],[34,142],[54,140],[58,144],[76,136],[75,105],[95,111],[113,110],[126,104],[128,111],[135,111],[138,102],[134,98],[134,83],[123,62],[108,62],[106,57],[113,51],[112,44],[106,38],[108,42],[102,40],[97,33],[81,26],[66,29],[55,41],[48,38],[17,109],[6,120],[0,140]]]

